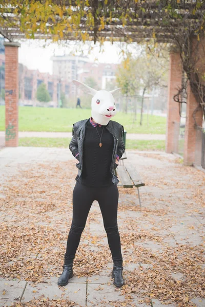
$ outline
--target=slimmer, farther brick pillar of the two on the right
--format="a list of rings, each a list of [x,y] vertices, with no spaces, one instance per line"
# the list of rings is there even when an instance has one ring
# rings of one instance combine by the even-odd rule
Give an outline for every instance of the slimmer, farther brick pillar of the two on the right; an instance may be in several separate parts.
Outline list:
[[[178,147],[178,133],[180,125],[179,105],[173,97],[177,94],[177,88],[181,87],[182,67],[180,55],[172,51],[170,53],[169,84],[168,84],[168,106],[167,106],[167,131],[166,152],[176,151]]]

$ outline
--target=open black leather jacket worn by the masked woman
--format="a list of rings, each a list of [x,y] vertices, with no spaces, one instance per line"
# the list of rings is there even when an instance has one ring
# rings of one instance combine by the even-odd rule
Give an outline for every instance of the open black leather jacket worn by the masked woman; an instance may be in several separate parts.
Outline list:
[[[79,163],[76,163],[76,167],[78,168],[78,174],[75,178],[79,183],[81,183],[81,173],[83,171],[83,143],[85,138],[86,124],[89,120],[90,119],[84,119],[73,124],[73,137],[69,144],[69,149],[71,150],[72,155],[74,157],[76,153],[79,152],[79,155],[76,157],[76,159],[79,161]],[[119,180],[115,175],[115,169],[117,168],[118,164],[115,163],[115,156],[117,154],[120,159],[125,151],[125,144],[122,139],[122,136],[124,136],[124,127],[118,122],[110,120],[106,128],[110,131],[114,138],[114,147],[112,154],[112,163],[110,165],[110,172],[112,174],[112,182],[114,184],[118,184]]]

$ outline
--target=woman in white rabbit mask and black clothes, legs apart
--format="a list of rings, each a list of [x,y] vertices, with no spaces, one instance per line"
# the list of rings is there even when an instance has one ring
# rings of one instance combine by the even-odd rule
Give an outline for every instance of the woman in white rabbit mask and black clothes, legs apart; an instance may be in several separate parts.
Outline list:
[[[98,201],[107,232],[108,244],[113,259],[112,278],[116,287],[125,281],[122,277],[122,255],[117,226],[119,182],[114,170],[125,151],[122,140],[124,127],[110,118],[116,114],[113,94],[96,91],[84,83],[73,80],[83,87],[92,98],[92,116],[73,124],[73,137],[69,148],[79,161],[78,174],[73,189],[73,218],[68,235],[63,273],[58,278],[59,286],[66,286],[73,276],[73,259],[78,248],[88,213],[94,200]]]

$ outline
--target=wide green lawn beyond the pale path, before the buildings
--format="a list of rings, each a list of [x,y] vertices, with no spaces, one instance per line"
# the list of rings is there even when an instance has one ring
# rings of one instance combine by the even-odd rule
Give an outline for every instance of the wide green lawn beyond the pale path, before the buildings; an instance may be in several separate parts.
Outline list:
[[[90,109],[46,108],[19,106],[19,131],[72,131],[73,123],[91,116]],[[124,125],[128,133],[166,134],[166,118],[144,114],[142,126],[137,121],[133,123],[133,114],[118,112],[113,120]],[[0,130],[5,130],[5,106],[0,106]]]

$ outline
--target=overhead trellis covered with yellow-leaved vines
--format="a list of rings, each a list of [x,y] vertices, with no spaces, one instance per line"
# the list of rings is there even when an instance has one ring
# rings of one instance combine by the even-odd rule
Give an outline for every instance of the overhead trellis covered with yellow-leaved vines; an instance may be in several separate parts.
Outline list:
[[[1,0],[0,33],[9,39],[172,42],[203,33],[204,1]]]

